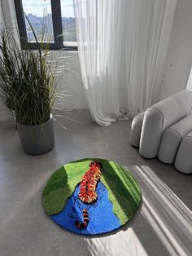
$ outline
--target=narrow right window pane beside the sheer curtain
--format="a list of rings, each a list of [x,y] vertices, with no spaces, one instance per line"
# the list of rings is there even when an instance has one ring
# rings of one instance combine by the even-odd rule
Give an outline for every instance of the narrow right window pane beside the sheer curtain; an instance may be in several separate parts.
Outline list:
[[[61,0],[61,16],[64,46],[77,46],[76,21],[72,0]]]

